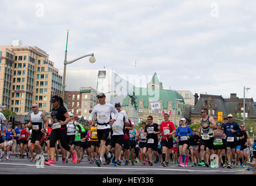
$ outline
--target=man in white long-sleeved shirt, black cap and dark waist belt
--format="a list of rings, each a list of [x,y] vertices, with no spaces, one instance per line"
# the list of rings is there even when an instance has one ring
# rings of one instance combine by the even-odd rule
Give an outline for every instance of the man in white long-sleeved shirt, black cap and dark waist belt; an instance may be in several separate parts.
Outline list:
[[[99,103],[94,106],[91,115],[89,116],[89,123],[93,123],[93,117],[97,114],[97,135],[99,141],[99,160],[96,160],[95,163],[97,166],[101,166],[104,153],[107,155],[107,164],[109,164],[113,158],[113,154],[109,153],[106,148],[106,140],[108,139],[109,132],[111,130],[111,125],[116,118],[118,117],[118,110],[116,110],[113,105],[106,103],[106,96],[104,93],[99,93],[97,95]],[[114,113],[115,116],[111,118],[111,113]]]

